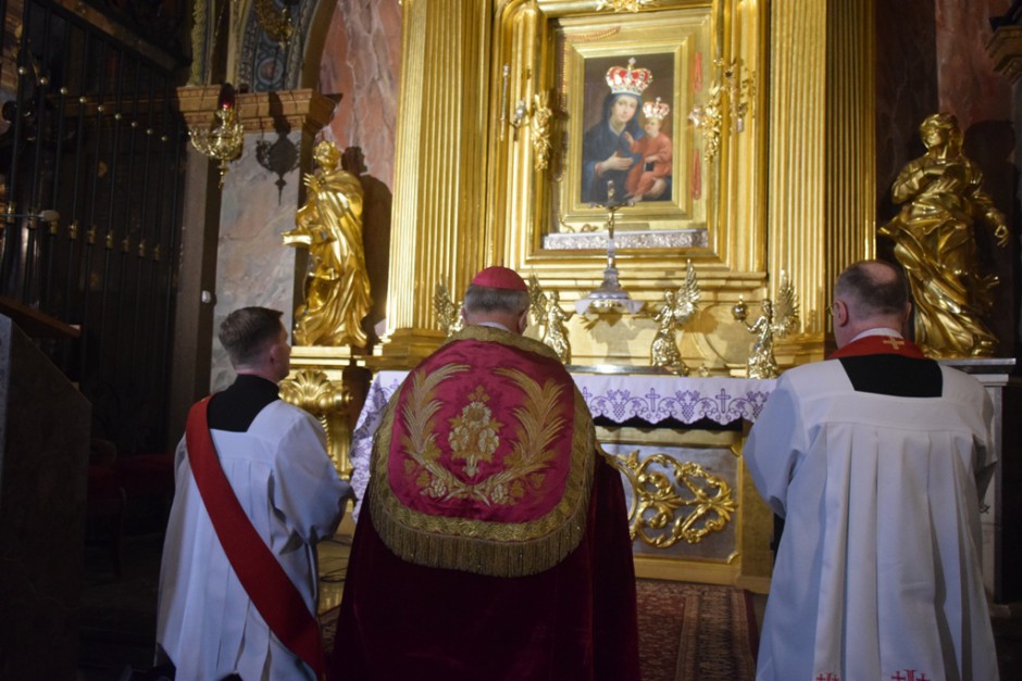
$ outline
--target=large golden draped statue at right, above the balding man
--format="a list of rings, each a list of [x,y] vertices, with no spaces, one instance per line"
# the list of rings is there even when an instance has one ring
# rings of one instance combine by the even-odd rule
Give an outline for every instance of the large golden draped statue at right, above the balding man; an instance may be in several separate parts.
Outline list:
[[[915,342],[933,357],[990,356],[997,338],[983,318],[992,307],[996,275],[981,275],[975,225],[1008,244],[1005,216],[983,191],[983,175],[962,155],[962,133],[951,114],[919,126],[926,153],[910,161],[892,188],[901,212],[880,234],[895,243],[895,257],[915,304]]]

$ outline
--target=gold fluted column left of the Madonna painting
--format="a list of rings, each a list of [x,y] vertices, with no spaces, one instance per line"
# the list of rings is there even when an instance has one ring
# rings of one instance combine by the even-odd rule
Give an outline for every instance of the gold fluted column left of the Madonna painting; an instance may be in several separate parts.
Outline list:
[[[461,297],[486,260],[488,0],[406,0],[387,335],[377,366],[408,367],[444,332],[433,295]]]

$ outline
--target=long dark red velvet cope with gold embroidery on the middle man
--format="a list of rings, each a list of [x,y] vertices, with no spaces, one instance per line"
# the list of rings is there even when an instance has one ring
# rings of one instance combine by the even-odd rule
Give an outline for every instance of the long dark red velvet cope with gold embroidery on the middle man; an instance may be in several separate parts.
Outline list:
[[[624,492],[619,474],[597,451],[591,418],[571,377],[545,345],[484,327],[456,336],[420,365],[421,376],[437,377],[449,366],[468,368],[431,393],[437,401],[431,413],[438,415],[431,425],[415,420],[413,371],[377,433],[370,503],[354,535],[331,678],[637,680]],[[498,369],[520,371],[511,376],[518,382],[495,379]],[[539,392],[568,392],[545,402],[540,413],[528,404],[538,393],[515,394],[514,386],[526,383]],[[538,475],[532,468],[510,482],[508,495],[493,493],[487,477],[536,458],[522,446],[529,438],[529,413],[548,427],[560,424],[539,447]],[[420,436],[426,430],[434,437],[416,440],[415,423]],[[466,447],[459,428],[472,430],[472,442],[482,444]],[[410,446],[416,441],[438,451],[423,456]],[[579,443],[589,451],[579,452]],[[544,458],[551,452],[554,457]],[[579,504],[581,513],[574,513]],[[389,542],[374,517],[381,509],[388,514]],[[560,520],[551,525],[550,517]],[[559,545],[566,550],[559,552]],[[500,576],[509,564],[515,576]]]

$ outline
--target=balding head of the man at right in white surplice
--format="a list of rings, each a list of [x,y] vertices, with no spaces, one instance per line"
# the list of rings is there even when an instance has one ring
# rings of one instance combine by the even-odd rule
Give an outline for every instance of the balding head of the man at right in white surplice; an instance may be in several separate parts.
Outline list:
[[[912,305],[901,270],[870,260],[849,266],[834,288],[834,338],[843,348],[862,331],[874,328],[905,332]]]

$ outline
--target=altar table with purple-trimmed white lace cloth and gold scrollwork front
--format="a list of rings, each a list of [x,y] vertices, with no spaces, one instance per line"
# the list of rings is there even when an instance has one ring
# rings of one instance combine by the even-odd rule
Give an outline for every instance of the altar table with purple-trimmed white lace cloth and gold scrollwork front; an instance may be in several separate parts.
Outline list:
[[[370,386],[349,451],[359,499],[373,436],[406,375],[381,371]],[[765,593],[772,516],[741,465],[741,444],[774,381],[577,370],[572,378],[622,474],[636,573]]]

